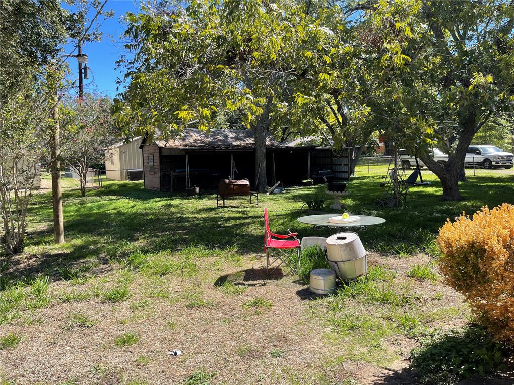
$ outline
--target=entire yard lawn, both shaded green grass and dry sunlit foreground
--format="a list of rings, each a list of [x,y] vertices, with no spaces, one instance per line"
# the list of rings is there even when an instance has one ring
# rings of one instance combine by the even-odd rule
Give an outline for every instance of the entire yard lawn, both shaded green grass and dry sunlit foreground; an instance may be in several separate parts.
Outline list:
[[[66,191],[59,246],[40,194],[24,254],[0,266],[0,384],[408,384],[422,380],[412,362],[442,371],[429,349],[448,346],[424,341],[447,330],[466,338],[470,313],[437,274],[435,234],[463,210],[512,202],[514,176],[470,178],[463,202],[440,201],[425,178],[433,184],[395,209],[375,205],[380,177],[352,180],[347,210],[387,222],[360,234],[369,279],[326,298],[285,269],[262,269],[263,207],[273,232],[327,236],[296,221],[324,186],[219,209],[213,194],[139,182],[106,182],[85,198]],[[458,377],[450,372],[446,383]]]

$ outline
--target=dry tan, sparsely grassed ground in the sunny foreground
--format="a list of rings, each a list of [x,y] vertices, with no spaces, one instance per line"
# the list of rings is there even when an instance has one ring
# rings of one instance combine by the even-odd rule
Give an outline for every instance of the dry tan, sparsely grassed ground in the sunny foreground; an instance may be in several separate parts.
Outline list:
[[[396,272],[394,287],[408,290],[413,297],[408,306],[413,312],[462,309],[462,298],[439,281],[418,281],[405,275],[411,265],[426,262],[428,257],[423,255],[400,259],[373,254],[370,258],[371,266],[380,264]],[[26,266],[31,263],[27,258]],[[387,315],[388,305],[348,300],[346,310],[353,306],[359,317],[370,317],[372,335],[351,328],[348,332],[329,321],[334,316],[331,310],[306,295],[306,286],[296,276],[268,277],[262,264],[262,258],[245,257],[235,265],[210,265],[196,276],[169,274],[161,278],[136,270],[128,283],[130,296],[114,303],[101,296],[62,302],[59,293],[116,286],[119,267],[115,271],[97,267],[94,278],[81,285],[53,282],[49,285],[53,300],[48,307],[24,310],[22,317],[0,326],[2,335],[13,332],[22,336],[16,348],[0,351],[0,369],[7,378],[24,384],[69,380],[169,384],[180,383],[194,373],[212,375],[213,384],[342,384],[351,379],[361,384],[412,383],[406,367],[416,340],[398,330],[395,315]],[[245,289],[229,294],[223,287],[227,281]],[[255,299],[271,305],[248,305],[260,303]],[[463,312],[451,313],[444,322],[462,323]],[[85,315],[93,325],[70,326],[74,314]],[[386,318],[371,318],[376,314]],[[27,324],[23,320],[29,316],[42,323]],[[436,325],[444,317],[434,316],[425,324]],[[366,325],[368,321],[364,321]],[[374,328],[379,332],[382,328],[383,335],[375,335]],[[116,338],[126,333],[133,333],[137,342],[117,346]],[[375,342],[380,347],[375,349],[360,338],[378,338]],[[168,354],[175,349],[182,355]],[[387,357],[382,357],[381,350],[388,352]],[[387,364],[370,362],[374,354]],[[401,375],[395,378],[392,373]]]

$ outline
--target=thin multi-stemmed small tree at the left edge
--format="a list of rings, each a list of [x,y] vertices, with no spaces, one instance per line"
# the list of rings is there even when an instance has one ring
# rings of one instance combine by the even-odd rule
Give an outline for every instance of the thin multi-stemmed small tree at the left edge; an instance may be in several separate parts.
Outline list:
[[[27,89],[0,108],[0,233],[7,255],[23,249],[27,207],[45,151],[48,105],[38,88]]]

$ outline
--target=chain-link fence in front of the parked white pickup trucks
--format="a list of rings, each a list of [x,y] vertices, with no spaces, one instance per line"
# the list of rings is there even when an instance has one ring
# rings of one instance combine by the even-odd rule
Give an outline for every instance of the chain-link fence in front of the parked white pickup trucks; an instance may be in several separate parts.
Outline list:
[[[393,168],[393,157],[362,157],[359,159],[355,167],[355,176],[386,176],[389,165]],[[401,161],[398,166],[402,167]],[[420,166],[422,163],[420,164]],[[486,168],[489,164],[484,164],[482,159],[468,159],[464,169],[466,177],[479,177],[479,176],[514,176],[514,169],[509,168],[508,165],[494,166]],[[422,175],[433,175],[432,172],[426,167],[421,166]],[[413,166],[405,167],[406,175],[410,175],[416,168]]]

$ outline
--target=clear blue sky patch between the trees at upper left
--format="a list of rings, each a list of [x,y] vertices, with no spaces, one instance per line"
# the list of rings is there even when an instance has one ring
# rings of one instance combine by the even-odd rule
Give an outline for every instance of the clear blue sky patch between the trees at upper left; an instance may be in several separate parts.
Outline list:
[[[89,58],[90,68],[89,79],[84,80],[84,91],[98,91],[114,97],[116,90],[116,79],[122,72],[116,70],[115,62],[124,52],[123,43],[120,36],[125,31],[125,24],[121,20],[126,12],[137,12],[139,1],[133,0],[108,0],[106,9],[113,9],[115,15],[103,22],[100,30],[103,31],[101,42],[86,43],[82,46],[82,51]],[[69,52],[73,46],[65,47],[65,52]],[[72,70],[72,79],[78,80],[78,63],[74,57],[69,59],[69,66]]]

